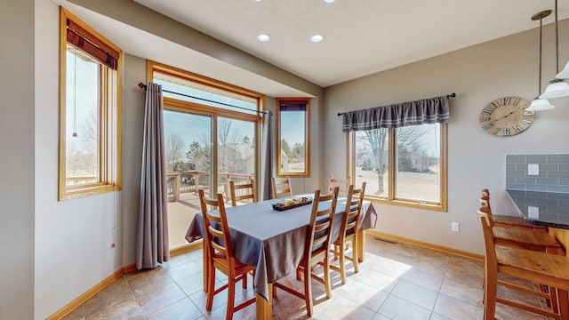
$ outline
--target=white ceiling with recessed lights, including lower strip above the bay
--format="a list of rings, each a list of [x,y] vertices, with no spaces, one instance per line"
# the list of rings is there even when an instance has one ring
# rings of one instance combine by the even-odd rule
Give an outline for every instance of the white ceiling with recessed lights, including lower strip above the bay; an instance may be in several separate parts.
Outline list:
[[[273,97],[303,95],[66,0],[53,1],[124,52]],[[539,22],[531,16],[555,7],[555,0],[133,1],[322,87],[537,28]],[[569,17],[569,1],[560,1],[558,16]],[[544,24],[553,21],[551,14]],[[260,33],[271,40],[259,42]],[[309,37],[315,33],[325,36],[324,41],[311,43]],[[564,45],[569,36],[560,33],[559,38]]]

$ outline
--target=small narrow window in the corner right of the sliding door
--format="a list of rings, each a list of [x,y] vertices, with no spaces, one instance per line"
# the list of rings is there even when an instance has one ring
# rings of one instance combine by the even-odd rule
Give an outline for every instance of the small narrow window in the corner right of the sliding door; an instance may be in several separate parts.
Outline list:
[[[276,175],[310,176],[310,100],[276,100]]]

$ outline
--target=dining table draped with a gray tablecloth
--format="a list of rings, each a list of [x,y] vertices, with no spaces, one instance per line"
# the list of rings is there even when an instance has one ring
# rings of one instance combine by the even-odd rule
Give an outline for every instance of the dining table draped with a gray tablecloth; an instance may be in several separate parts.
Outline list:
[[[314,195],[299,196],[311,197]],[[229,235],[236,259],[257,268],[253,278],[257,295],[257,319],[270,319],[272,317],[272,284],[296,271],[306,243],[312,204],[301,205],[284,211],[273,208],[273,204],[283,203],[285,200],[285,198],[277,198],[226,207]],[[341,220],[346,201],[345,197],[338,198],[333,220],[332,241],[340,236]],[[330,202],[318,204],[320,209],[330,205]],[[356,209],[356,207],[350,208],[350,210]],[[373,204],[364,201],[357,234],[360,261],[363,261],[365,257],[365,229],[375,228],[376,221],[377,212]],[[199,212],[188,227],[186,240],[191,243],[202,239],[203,236],[204,218]],[[205,259],[206,255],[204,254]],[[206,265],[204,261],[204,268]]]

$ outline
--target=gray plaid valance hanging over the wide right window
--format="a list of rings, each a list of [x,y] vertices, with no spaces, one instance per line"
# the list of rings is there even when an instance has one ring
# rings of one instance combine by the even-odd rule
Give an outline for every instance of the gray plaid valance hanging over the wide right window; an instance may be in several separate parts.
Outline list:
[[[345,112],[341,131],[398,128],[418,124],[446,124],[448,119],[448,97],[441,96]]]

